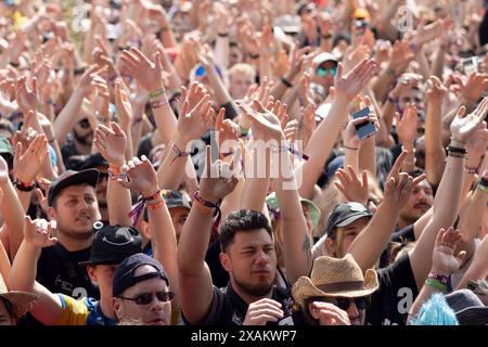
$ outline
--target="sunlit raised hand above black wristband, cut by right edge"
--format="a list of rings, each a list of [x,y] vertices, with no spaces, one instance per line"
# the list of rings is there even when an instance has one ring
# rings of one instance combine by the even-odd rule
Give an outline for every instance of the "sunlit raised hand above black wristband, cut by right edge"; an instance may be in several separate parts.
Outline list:
[[[451,140],[461,144],[465,144],[472,134],[485,124],[484,119],[488,113],[488,98],[483,99],[476,110],[464,117],[465,113],[466,107],[461,106],[450,128]]]

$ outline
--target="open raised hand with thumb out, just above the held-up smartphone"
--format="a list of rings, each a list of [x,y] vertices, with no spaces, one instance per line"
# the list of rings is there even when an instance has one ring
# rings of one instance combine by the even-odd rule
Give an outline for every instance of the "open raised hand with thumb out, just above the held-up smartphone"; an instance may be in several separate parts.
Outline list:
[[[339,63],[335,75],[335,98],[351,101],[370,81],[377,70],[376,62],[363,60],[343,77],[343,64]]]

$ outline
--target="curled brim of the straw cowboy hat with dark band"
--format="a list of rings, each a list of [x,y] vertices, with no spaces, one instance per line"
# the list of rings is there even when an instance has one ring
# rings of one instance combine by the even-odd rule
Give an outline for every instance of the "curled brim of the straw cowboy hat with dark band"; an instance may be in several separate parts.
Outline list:
[[[326,296],[326,297],[362,297],[368,296],[376,292],[380,283],[377,280],[376,271],[368,269],[364,274],[364,286],[361,290],[354,291],[341,291],[341,292],[323,292],[316,287],[311,280],[306,277],[301,277],[292,287],[292,296],[294,300],[304,308],[305,299],[314,296]]]

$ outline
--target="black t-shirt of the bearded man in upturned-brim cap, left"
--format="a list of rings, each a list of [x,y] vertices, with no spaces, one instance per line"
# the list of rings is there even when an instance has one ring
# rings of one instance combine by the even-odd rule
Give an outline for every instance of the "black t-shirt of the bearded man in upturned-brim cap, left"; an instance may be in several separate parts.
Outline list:
[[[90,281],[87,267],[78,265],[90,257],[90,247],[68,252],[60,243],[42,248],[37,261],[37,281],[52,293],[61,293],[79,299],[100,299],[99,288]]]

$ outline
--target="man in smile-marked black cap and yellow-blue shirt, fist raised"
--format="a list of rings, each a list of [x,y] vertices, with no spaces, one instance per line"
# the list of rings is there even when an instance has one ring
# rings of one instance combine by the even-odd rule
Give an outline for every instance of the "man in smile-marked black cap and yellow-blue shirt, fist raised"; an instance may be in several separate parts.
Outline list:
[[[47,325],[113,325],[116,323],[112,301],[114,271],[125,258],[140,253],[141,236],[132,227],[105,226],[93,237],[87,266],[90,279],[100,287],[100,300],[84,297],[76,300],[53,294],[36,282],[36,265],[41,248],[56,243],[51,237],[55,221],[26,217],[24,241],[11,269],[12,288],[37,294],[39,299],[30,313]]]

